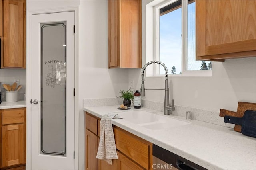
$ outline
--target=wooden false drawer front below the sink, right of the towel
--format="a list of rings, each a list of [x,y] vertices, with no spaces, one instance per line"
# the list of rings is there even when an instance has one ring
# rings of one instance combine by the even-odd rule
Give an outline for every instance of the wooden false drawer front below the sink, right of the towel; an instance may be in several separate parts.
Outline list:
[[[131,158],[145,169],[150,165],[150,144],[127,131],[114,127],[116,149]]]

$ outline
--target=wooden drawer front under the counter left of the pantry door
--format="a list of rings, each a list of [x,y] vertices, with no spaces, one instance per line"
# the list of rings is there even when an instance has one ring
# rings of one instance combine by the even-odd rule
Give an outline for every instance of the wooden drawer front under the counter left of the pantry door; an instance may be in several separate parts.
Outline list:
[[[24,123],[24,109],[8,109],[2,111],[2,125]]]

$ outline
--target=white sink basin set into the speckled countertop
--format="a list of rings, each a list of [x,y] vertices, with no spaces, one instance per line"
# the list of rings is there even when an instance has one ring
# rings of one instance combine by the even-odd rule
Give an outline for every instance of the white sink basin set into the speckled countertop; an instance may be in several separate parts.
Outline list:
[[[126,121],[152,130],[168,129],[170,127],[190,124],[186,121],[180,121],[178,119],[173,119],[172,117],[166,117],[143,110],[126,111],[118,113],[118,115]]]

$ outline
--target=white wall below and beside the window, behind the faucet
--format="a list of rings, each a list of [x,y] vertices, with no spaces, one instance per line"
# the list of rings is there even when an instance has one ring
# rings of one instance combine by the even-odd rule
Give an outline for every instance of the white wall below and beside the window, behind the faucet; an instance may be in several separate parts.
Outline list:
[[[146,63],[145,5],[149,2],[142,1],[142,65]],[[140,89],[139,69],[129,70],[130,80],[134,80],[137,90]],[[145,80],[145,88],[164,88],[163,77],[146,77]],[[256,57],[212,62],[212,77],[169,77],[169,88],[174,104],[236,111],[238,101],[256,103]],[[144,98],[164,102],[164,92],[146,90]]]

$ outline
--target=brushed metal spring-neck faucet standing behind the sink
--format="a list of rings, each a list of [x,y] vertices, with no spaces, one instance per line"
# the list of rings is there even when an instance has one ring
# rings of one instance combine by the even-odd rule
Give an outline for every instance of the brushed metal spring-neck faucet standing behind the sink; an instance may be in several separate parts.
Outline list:
[[[161,66],[164,67],[165,70],[165,88],[145,88],[144,86],[144,72],[147,68],[147,66],[149,66],[150,64],[160,64]],[[145,96],[145,90],[164,90],[164,114],[165,115],[169,115],[170,111],[174,111],[175,107],[174,107],[174,100],[172,99],[172,104],[171,106],[169,106],[169,83],[168,83],[168,70],[166,68],[166,66],[164,65],[164,63],[160,62],[160,61],[150,61],[147,64],[144,65],[144,67],[141,70],[141,80],[142,80],[142,84],[141,84],[141,88],[140,88],[140,95],[141,96]]]

